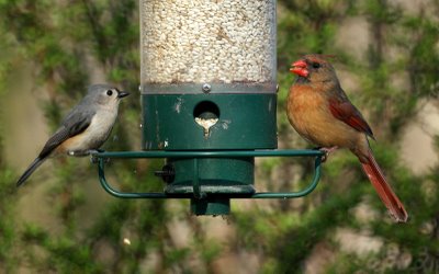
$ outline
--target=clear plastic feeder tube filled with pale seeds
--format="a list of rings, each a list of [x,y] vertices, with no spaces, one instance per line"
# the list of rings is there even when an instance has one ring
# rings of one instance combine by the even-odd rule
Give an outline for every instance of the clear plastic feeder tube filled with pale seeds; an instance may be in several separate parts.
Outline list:
[[[146,93],[203,83],[275,92],[275,0],[140,0],[140,36]]]

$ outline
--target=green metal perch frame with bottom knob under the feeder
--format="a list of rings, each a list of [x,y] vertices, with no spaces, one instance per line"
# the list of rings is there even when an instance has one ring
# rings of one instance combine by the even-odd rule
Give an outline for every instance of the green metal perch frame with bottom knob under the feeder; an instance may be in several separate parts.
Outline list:
[[[320,178],[322,157],[319,150],[221,150],[221,151],[119,151],[97,152],[92,158],[98,162],[99,181],[102,187],[111,195],[119,198],[191,198],[192,212],[196,215],[223,215],[229,213],[229,198],[297,198],[303,197],[317,186]],[[199,159],[206,158],[252,158],[252,157],[315,157],[314,178],[312,182],[299,192],[256,192],[256,193],[209,193],[202,191],[202,180],[199,176]],[[112,187],[105,179],[106,159],[139,159],[139,158],[164,158],[164,159],[192,159],[192,192],[167,193],[167,192],[120,192]],[[251,184],[250,182],[249,184]]]

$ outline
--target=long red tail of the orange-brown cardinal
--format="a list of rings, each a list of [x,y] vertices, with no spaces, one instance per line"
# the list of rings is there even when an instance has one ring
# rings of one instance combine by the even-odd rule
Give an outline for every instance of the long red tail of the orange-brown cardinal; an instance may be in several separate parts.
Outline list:
[[[364,173],[368,175],[381,201],[383,201],[384,205],[390,210],[392,217],[398,222],[406,222],[408,214],[405,210],[403,203],[401,203],[399,198],[385,181],[385,178],[370,150],[368,162],[362,162],[361,164]]]

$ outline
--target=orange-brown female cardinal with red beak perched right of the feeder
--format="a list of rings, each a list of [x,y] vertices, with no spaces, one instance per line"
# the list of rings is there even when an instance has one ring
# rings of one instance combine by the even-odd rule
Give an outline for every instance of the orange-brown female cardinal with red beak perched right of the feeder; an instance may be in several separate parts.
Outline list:
[[[372,129],[341,89],[334,67],[324,56],[306,55],[293,62],[290,71],[299,76],[290,88],[286,104],[294,129],[327,152],[350,149],[392,217],[399,222],[407,221],[407,212],[369,147],[368,136],[374,139]]]

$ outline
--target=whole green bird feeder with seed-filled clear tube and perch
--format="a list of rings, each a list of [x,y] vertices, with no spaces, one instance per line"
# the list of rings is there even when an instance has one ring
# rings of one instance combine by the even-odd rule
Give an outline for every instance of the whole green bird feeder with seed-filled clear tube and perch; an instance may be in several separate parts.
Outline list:
[[[142,149],[95,153],[102,186],[125,198],[190,198],[196,215],[230,198],[299,197],[322,152],[277,149],[275,0],[140,0]],[[257,193],[255,157],[315,157],[302,192]],[[159,193],[121,193],[105,158],[164,158]]]

